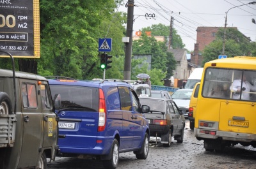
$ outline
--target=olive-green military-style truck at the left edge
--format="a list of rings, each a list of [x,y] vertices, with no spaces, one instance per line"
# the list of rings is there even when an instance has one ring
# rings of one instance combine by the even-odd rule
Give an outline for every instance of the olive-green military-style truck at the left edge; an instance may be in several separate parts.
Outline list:
[[[47,168],[47,158],[54,161],[58,151],[57,139],[48,81],[0,69],[0,168]]]

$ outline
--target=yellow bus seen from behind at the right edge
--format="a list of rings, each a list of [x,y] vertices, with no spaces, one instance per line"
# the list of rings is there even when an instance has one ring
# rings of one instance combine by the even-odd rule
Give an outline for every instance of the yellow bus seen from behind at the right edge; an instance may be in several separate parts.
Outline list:
[[[256,57],[205,63],[198,92],[194,134],[205,151],[240,143],[256,147]]]

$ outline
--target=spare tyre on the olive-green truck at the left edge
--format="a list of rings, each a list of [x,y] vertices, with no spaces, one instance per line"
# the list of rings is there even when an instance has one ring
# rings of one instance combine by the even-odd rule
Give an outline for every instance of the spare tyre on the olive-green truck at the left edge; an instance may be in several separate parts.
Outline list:
[[[1,115],[13,114],[12,102],[6,92],[0,92],[0,114]]]

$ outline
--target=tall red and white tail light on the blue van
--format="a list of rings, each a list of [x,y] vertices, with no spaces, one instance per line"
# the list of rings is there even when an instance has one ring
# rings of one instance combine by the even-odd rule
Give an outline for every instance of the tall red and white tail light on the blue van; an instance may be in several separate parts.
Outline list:
[[[98,131],[104,131],[106,128],[106,102],[102,89],[99,89],[99,125]]]

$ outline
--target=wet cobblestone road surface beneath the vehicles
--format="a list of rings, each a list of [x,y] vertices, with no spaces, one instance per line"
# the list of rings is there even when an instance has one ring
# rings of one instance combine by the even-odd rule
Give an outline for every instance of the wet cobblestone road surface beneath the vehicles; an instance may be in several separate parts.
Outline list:
[[[48,163],[47,167],[51,169],[104,168],[101,161],[60,157]],[[196,140],[193,130],[189,128],[189,121],[186,120],[183,143],[177,143],[174,139],[171,147],[163,147],[161,143],[151,143],[148,158],[145,160],[136,159],[133,152],[121,153],[118,169],[128,168],[256,169],[256,149],[236,145],[226,147],[222,153],[206,152],[204,142]]]

